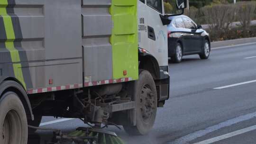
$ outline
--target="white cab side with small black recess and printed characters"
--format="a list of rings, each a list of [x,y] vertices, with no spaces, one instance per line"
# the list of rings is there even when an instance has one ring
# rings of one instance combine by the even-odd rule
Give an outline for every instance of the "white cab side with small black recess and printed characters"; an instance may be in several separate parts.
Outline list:
[[[163,14],[163,0],[138,0],[139,47],[155,56],[159,66],[168,65],[167,26]]]

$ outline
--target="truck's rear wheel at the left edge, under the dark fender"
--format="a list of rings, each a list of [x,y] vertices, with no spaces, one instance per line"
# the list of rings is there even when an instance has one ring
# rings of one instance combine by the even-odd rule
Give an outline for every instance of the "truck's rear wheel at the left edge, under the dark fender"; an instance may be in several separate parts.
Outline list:
[[[0,99],[0,144],[27,144],[27,116],[14,92]]]

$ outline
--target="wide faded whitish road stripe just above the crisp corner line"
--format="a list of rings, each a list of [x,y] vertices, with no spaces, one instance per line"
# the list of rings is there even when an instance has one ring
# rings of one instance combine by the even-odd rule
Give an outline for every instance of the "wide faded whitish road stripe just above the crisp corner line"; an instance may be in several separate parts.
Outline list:
[[[209,133],[212,133],[214,131],[217,131],[220,128],[231,126],[231,125],[237,124],[237,123],[245,121],[245,120],[249,120],[254,117],[256,117],[256,112],[249,113],[244,116],[239,116],[239,117],[236,117],[233,119],[229,119],[225,122],[219,123],[218,125],[210,126],[210,127],[207,127],[206,129],[199,130],[199,131],[193,132],[191,134],[185,135],[185,136],[178,138],[168,144],[188,144],[190,141],[192,141],[198,137],[201,137],[201,136],[207,135]]]

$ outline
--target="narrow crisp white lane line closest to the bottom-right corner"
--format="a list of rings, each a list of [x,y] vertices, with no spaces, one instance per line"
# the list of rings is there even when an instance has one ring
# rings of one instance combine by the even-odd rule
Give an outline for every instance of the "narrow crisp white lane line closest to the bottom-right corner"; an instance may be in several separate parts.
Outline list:
[[[227,138],[232,137],[232,136],[241,135],[241,134],[253,131],[253,130],[256,130],[256,125],[250,126],[250,127],[244,128],[244,129],[240,129],[240,130],[237,130],[237,131],[225,134],[225,135],[220,135],[220,136],[217,136],[217,137],[213,137],[213,138],[210,138],[208,140],[204,140],[204,141],[194,143],[194,144],[211,144],[211,143],[218,142],[220,140],[224,140],[224,139],[227,139]]]

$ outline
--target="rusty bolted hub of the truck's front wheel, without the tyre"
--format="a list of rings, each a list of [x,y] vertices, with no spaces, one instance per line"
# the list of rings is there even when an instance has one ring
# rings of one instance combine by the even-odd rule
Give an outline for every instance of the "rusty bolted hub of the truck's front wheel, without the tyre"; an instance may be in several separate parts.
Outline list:
[[[149,85],[143,86],[140,95],[140,110],[144,122],[148,122],[153,115],[155,109],[154,94]]]

